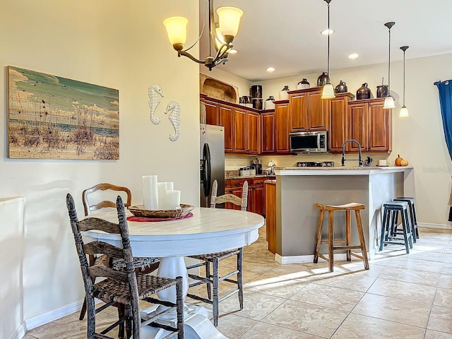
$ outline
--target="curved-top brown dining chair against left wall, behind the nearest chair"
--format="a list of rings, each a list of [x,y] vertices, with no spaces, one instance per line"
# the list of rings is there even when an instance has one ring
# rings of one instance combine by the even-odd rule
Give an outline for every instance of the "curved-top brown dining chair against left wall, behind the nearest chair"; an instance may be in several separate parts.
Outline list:
[[[126,197],[126,203],[124,206],[131,206],[132,194],[130,189],[124,186],[117,186],[114,184],[102,183],[97,184],[89,189],[85,189],[82,193],[82,202],[83,209],[85,210],[85,216],[90,215],[93,210],[100,210],[102,208],[116,208],[116,203],[114,201],[102,200],[97,203],[93,203],[93,198],[89,198],[91,194],[95,194],[97,191],[113,191],[113,192],[123,192]],[[107,192],[109,193],[109,192]],[[95,194],[100,196],[99,194]],[[114,268],[115,270],[124,270],[126,268],[126,263],[124,259],[112,260],[108,256],[97,256],[95,257],[93,254],[89,256],[90,266],[95,264],[104,264]],[[142,273],[151,273],[156,270],[159,266],[159,258],[133,258],[133,268]],[[98,311],[102,311],[103,309],[98,309]],[[82,309],[80,311],[80,316],[78,319],[83,320],[86,314],[86,300],[83,302]]]

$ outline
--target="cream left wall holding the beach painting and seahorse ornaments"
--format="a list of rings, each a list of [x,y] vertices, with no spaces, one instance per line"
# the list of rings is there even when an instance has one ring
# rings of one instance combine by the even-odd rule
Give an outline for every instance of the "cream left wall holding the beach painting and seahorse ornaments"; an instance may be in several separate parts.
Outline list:
[[[99,182],[129,186],[132,202],[141,203],[141,176],[157,174],[159,181],[174,182],[184,203],[198,205],[199,69],[193,61],[178,58],[167,40],[162,20],[176,13],[184,13],[189,25],[198,23],[198,2],[2,1],[3,68],[18,66],[119,90],[117,161],[8,159],[5,115],[0,119],[0,198],[25,197],[24,320],[83,299],[66,193],[76,198],[79,215],[81,192]],[[196,29],[190,32],[189,40],[196,40]],[[5,76],[4,70],[4,114]],[[148,87],[153,83],[165,94],[157,108],[160,125],[149,119]],[[181,106],[176,142],[168,139],[174,130],[163,114],[170,100]],[[8,227],[8,220],[0,227]]]

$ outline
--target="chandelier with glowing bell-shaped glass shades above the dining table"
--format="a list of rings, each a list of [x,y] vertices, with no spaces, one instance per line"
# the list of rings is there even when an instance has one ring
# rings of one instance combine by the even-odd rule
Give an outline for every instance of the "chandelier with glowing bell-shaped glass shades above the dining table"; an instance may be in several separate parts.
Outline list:
[[[201,39],[198,40],[189,48],[184,49],[186,42],[186,25],[189,23],[187,18],[182,16],[173,16],[163,21],[163,25],[167,29],[168,39],[172,47],[177,51],[177,56],[188,57],[189,59],[204,64],[211,71],[213,67],[218,64],[225,64],[227,57],[232,52],[232,41],[239,31],[240,18],[243,16],[243,11],[240,8],[225,6],[217,9],[218,22],[215,22],[213,13],[213,0],[206,0],[208,2],[208,28],[210,30],[209,39],[209,55],[203,60],[196,59],[188,51],[194,47]],[[206,13],[207,15],[207,13]],[[206,26],[206,19],[204,27]],[[213,41],[212,41],[213,40]],[[212,42],[215,47],[215,56],[210,55],[212,50]]]

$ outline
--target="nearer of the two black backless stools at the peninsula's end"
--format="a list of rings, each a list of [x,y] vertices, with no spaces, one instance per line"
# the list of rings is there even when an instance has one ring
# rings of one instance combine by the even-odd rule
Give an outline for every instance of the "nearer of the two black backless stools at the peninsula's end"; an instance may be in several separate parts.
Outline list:
[[[396,237],[399,232],[397,230],[398,213],[400,212],[402,219],[403,242]],[[383,250],[385,244],[405,245],[405,250],[410,253],[412,249],[412,233],[410,227],[410,219],[408,219],[408,202],[406,201],[388,201],[383,203],[383,225],[381,225],[380,251]]]

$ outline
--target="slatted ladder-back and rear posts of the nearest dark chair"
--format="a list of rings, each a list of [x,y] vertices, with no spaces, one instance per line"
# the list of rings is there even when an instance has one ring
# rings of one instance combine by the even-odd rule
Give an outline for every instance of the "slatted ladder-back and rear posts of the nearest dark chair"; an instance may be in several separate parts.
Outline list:
[[[93,282],[95,281],[95,278],[109,278],[109,280],[111,280],[113,283],[118,283],[118,285],[128,283],[130,290],[130,304],[133,316],[133,338],[139,338],[141,319],[138,304],[138,285],[136,281],[136,273],[133,268],[133,255],[129,239],[129,226],[127,225],[126,211],[121,196],[117,197],[115,205],[118,213],[118,224],[95,217],[78,220],[75,203],[71,194],[67,194],[66,196],[66,206],[69,211],[69,220],[71,221],[73,237],[76,242],[78,259],[81,263],[81,271],[83,276],[83,283],[85,285],[86,296],[90,296],[88,298],[93,297]],[[122,248],[99,241],[88,242],[87,244],[85,244],[83,242],[81,232],[89,230],[102,230],[110,234],[119,234],[121,236]],[[95,254],[105,254],[111,258],[123,258],[124,261],[126,261],[126,270],[113,270],[109,266],[102,264],[90,266],[88,264],[86,256]],[[127,297],[124,298],[124,304],[126,304]],[[88,316],[90,316],[90,314],[95,314],[94,302],[88,302],[87,304]]]

